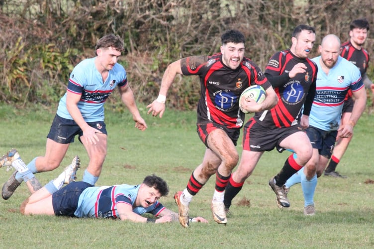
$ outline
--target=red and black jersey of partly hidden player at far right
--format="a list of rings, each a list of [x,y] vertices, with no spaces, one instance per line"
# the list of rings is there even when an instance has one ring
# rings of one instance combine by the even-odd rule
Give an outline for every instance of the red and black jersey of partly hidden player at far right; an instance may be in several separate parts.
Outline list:
[[[369,67],[370,56],[368,51],[364,48],[358,50],[355,48],[350,41],[346,41],[341,45],[342,52],[340,55],[343,58],[346,58],[348,61],[352,62],[360,69],[361,77],[364,78],[366,70]],[[349,90],[346,96],[346,100],[352,97],[352,91]]]

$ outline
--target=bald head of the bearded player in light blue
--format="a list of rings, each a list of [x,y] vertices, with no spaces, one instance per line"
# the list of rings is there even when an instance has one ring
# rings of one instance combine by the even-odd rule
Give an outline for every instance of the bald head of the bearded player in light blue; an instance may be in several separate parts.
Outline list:
[[[323,37],[322,43],[319,46],[321,63],[323,63],[327,68],[332,68],[339,59],[340,51],[339,37],[334,34],[326,35]]]

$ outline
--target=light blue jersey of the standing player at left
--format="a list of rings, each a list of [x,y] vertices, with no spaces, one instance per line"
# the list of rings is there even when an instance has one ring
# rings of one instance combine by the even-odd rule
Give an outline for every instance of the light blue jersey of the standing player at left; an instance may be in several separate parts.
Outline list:
[[[102,76],[95,67],[95,58],[85,59],[73,69],[67,89],[69,92],[82,94],[78,108],[86,122],[104,121],[104,102],[117,85],[123,87],[127,84],[126,71],[118,63],[102,83]],[[73,119],[66,108],[66,93],[60,100],[57,115]]]

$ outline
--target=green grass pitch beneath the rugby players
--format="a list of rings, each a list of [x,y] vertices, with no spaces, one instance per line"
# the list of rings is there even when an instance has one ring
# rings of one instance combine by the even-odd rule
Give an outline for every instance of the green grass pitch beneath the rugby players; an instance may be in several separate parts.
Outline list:
[[[17,148],[28,163],[43,155],[46,134],[55,110],[19,110],[0,105],[0,154]],[[167,110],[163,119],[146,115],[148,129],[138,131],[128,112],[106,113],[108,155],[97,185],[138,184],[155,173],[169,184],[161,198],[178,212],[173,194],[186,187],[192,170],[201,162],[204,145],[195,131],[195,112]],[[208,224],[134,224],[113,220],[22,216],[18,207],[27,198],[22,184],[9,200],[0,200],[0,248],[373,248],[374,247],[374,116],[367,113],[355,128],[348,152],[338,166],[347,179],[321,177],[315,195],[316,215],[303,215],[300,185],[288,194],[291,207],[279,209],[268,180],[275,175],[288,152],[266,152],[243,190],[233,200],[226,226],[216,224],[210,201],[214,178],[190,205],[190,215],[203,216]],[[241,151],[241,146],[237,146]],[[88,157],[78,140],[71,145],[61,166],[74,155],[81,157],[82,178]],[[63,167],[37,174],[42,184]],[[0,187],[12,171],[0,168]]]

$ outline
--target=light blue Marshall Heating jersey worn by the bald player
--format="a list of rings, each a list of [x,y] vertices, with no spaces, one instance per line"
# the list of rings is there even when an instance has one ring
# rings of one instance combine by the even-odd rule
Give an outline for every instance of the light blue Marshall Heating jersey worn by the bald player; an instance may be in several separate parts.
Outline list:
[[[337,130],[348,89],[351,88],[355,92],[364,85],[360,70],[352,62],[339,56],[326,75],[320,65],[320,58],[321,56],[312,59],[318,66],[318,73],[309,124],[326,131]]]

